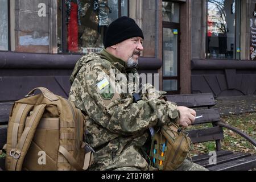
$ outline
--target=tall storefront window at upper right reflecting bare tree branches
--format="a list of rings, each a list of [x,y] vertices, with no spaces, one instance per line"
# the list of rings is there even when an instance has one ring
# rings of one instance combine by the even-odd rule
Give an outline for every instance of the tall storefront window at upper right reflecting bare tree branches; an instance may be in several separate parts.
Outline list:
[[[207,1],[207,57],[240,59],[240,1]]]

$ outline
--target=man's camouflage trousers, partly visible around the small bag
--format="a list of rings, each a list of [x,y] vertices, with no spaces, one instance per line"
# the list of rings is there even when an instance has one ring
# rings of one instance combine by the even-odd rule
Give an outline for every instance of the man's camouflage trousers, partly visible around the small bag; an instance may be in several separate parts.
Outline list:
[[[115,169],[115,171],[140,171],[136,167],[121,167]],[[184,162],[175,169],[175,171],[209,171],[207,168],[200,166],[199,164],[193,163],[188,159],[185,159]]]

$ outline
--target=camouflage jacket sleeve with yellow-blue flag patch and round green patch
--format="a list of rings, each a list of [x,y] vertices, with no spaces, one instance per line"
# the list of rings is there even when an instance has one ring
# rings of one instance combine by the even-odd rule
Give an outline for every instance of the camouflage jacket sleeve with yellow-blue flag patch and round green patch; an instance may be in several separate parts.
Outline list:
[[[80,95],[89,117],[113,133],[130,135],[154,125],[168,124],[178,118],[176,105],[166,101],[151,99],[134,103],[130,93],[118,93],[117,90],[114,93],[106,92],[109,86],[120,88],[121,85],[116,80],[114,85],[106,81],[110,75],[101,65],[85,69],[82,78],[89,96],[83,97],[83,89]]]

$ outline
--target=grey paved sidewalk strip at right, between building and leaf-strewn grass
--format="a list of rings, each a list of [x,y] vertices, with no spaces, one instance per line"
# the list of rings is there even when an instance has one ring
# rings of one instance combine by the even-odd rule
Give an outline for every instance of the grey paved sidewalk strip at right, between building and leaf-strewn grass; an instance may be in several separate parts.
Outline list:
[[[256,95],[218,97],[216,106],[220,115],[256,112]]]

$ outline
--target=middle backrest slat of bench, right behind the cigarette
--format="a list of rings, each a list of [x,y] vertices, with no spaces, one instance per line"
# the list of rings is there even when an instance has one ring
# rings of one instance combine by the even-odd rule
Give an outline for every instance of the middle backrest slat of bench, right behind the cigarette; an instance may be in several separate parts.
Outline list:
[[[196,111],[196,115],[203,115],[203,117],[196,119],[193,125],[220,121],[220,114],[218,113],[218,109],[199,110]]]

